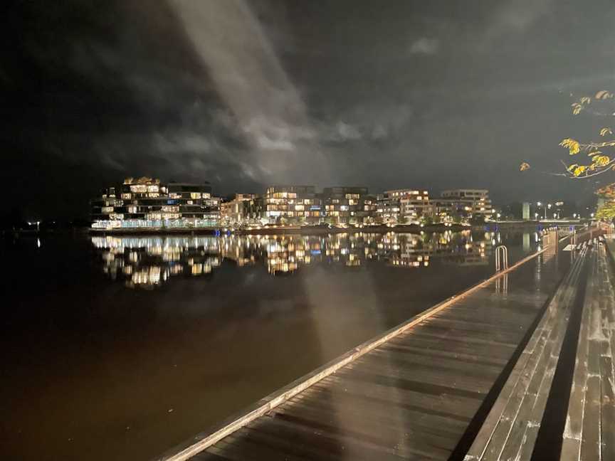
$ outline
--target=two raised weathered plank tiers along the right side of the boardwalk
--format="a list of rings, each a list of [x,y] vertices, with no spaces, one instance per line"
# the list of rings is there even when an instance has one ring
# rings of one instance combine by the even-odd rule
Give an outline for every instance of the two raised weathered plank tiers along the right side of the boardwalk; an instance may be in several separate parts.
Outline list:
[[[615,460],[615,279],[606,249],[597,243],[584,244],[577,253],[466,461]],[[585,277],[583,265],[589,265]],[[579,291],[586,282],[586,290]],[[572,309],[580,309],[574,322]],[[572,359],[576,351],[570,363],[560,363],[565,341],[573,348]],[[570,373],[572,383],[564,377],[556,385],[556,369],[562,376]],[[562,420],[557,428],[557,415],[545,411],[547,403],[566,412],[565,427]],[[549,434],[545,440],[561,441],[561,451],[549,442],[538,449],[540,430]]]

